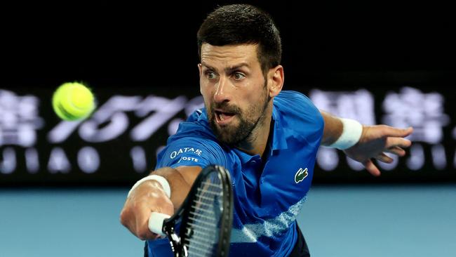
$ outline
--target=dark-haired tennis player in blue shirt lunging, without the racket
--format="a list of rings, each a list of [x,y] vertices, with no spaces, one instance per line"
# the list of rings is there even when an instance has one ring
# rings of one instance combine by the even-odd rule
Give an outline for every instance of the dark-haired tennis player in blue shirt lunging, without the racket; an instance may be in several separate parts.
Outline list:
[[[309,256],[296,223],[320,145],[336,147],[373,176],[373,159],[403,156],[413,129],[363,126],[321,112],[309,98],[282,91],[281,38],[271,17],[249,5],[210,13],[198,32],[205,108],[182,122],[155,170],[130,190],[121,223],[147,240],[145,256],[172,256],[167,239],[149,231],[153,211],[172,215],[204,166],[232,175],[230,256]]]

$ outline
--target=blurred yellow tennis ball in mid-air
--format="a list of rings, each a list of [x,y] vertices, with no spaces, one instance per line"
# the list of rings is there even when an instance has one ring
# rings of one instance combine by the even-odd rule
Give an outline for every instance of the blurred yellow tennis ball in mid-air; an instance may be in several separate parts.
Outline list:
[[[83,84],[69,82],[54,92],[52,105],[58,117],[76,121],[87,118],[95,110],[95,97]]]

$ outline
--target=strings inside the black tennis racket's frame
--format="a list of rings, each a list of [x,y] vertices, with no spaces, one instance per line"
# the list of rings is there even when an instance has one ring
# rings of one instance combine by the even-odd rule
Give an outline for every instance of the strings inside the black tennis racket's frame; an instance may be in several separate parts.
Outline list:
[[[189,256],[214,256],[222,217],[222,181],[213,173],[196,190],[189,211],[184,246]]]

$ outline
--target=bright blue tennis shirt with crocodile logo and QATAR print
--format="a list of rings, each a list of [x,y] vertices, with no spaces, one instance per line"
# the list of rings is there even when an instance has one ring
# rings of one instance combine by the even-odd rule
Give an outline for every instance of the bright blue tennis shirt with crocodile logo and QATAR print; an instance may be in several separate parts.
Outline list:
[[[282,91],[274,98],[273,131],[264,162],[215,138],[206,110],[196,110],[168,138],[156,169],[217,164],[232,176],[234,213],[230,256],[288,256],[297,240],[296,216],[314,173],[323,117],[309,98]],[[149,256],[173,256],[168,239],[149,240]]]

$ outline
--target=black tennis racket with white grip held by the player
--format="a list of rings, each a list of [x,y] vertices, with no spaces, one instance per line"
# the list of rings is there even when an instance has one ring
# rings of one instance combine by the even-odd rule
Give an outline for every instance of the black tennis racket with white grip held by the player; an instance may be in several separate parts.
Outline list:
[[[168,237],[176,257],[228,256],[233,222],[233,195],[229,171],[206,166],[189,195],[173,215],[152,213],[149,230]]]

